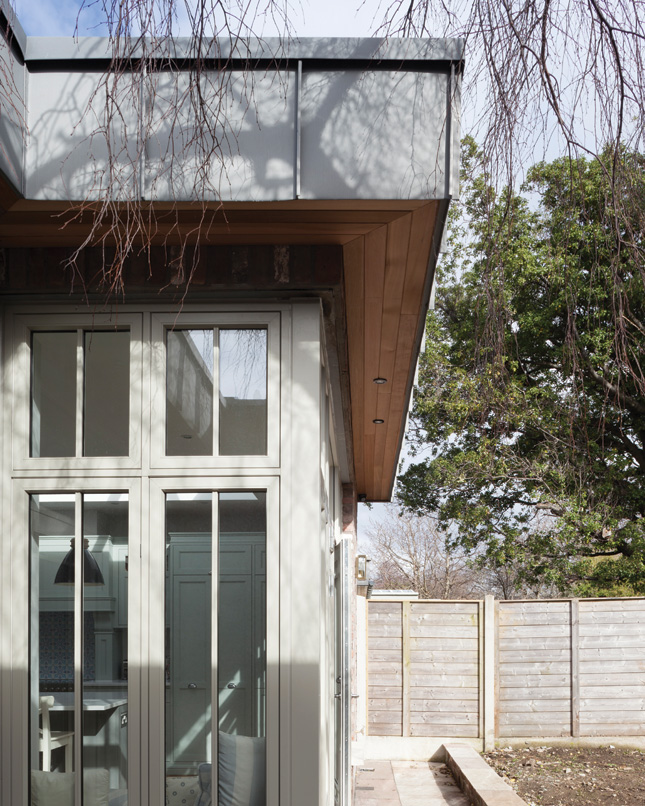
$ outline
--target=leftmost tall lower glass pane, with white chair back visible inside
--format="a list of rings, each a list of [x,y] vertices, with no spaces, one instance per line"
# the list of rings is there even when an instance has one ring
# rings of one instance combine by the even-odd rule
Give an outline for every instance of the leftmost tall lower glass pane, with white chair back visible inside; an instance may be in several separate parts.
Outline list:
[[[72,806],[73,776],[63,773],[73,771],[74,746],[74,496],[32,495],[30,530],[31,803],[49,788]]]

